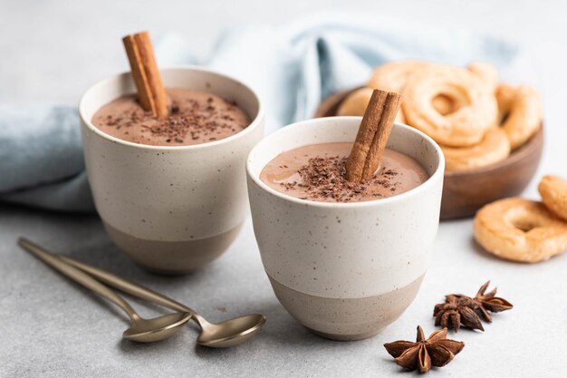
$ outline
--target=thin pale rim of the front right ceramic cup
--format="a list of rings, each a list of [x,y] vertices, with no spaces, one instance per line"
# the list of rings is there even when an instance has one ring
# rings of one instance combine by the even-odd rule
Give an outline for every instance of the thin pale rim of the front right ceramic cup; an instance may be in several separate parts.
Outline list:
[[[394,128],[401,128],[401,129],[405,129],[409,132],[413,132],[418,134],[418,136],[422,137],[425,141],[428,141],[429,145],[431,147],[433,147],[436,151],[437,151],[437,156],[439,157],[439,161],[437,163],[437,168],[436,170],[433,172],[433,174],[431,176],[429,176],[429,178],[422,183],[421,185],[419,185],[416,188],[413,189],[409,189],[408,191],[404,192],[404,193],[400,193],[397,194],[395,196],[391,196],[385,199],[370,199],[370,200],[366,200],[366,201],[357,201],[357,202],[322,202],[322,201],[314,201],[312,199],[298,199],[292,196],[289,196],[281,191],[278,191],[276,189],[271,188],[269,185],[267,185],[266,183],[264,183],[264,181],[262,181],[262,179],[260,179],[260,175],[259,174],[255,174],[255,172],[253,171],[251,164],[251,156],[255,153],[255,150],[257,150],[262,144],[267,143],[267,141],[273,139],[273,138],[277,138],[278,134],[285,132],[286,129],[292,128],[292,129],[299,129],[299,128],[306,128],[306,127],[310,127],[313,124],[317,124],[320,122],[325,122],[325,121],[347,121],[347,120],[352,120],[352,119],[358,119],[360,121],[362,121],[362,117],[357,117],[357,116],[332,116],[332,117],[321,117],[321,118],[313,118],[310,120],[304,120],[304,121],[297,121],[297,122],[293,122],[287,126],[284,126],[282,129],[278,130],[278,131],[274,131],[273,133],[271,133],[270,135],[264,137],[264,139],[262,141],[259,141],[258,143],[256,143],[256,145],[254,146],[254,148],[252,150],[250,150],[250,152],[248,153],[248,157],[246,158],[246,175],[250,178],[253,179],[255,184],[260,187],[261,189],[263,189],[264,191],[267,191],[268,193],[272,194],[275,197],[278,197],[280,199],[286,200],[286,201],[290,201],[299,205],[303,205],[303,206],[307,206],[307,207],[312,207],[312,208],[364,208],[364,207],[370,207],[370,206],[386,206],[390,203],[395,203],[395,202],[399,202],[399,201],[403,201],[405,199],[407,199],[408,197],[412,197],[417,195],[419,192],[423,191],[423,190],[428,190],[431,186],[435,185],[437,180],[443,180],[443,174],[445,171],[445,156],[443,155],[443,152],[441,150],[441,148],[439,147],[439,145],[437,144],[436,141],[434,141],[431,137],[429,137],[426,133],[422,132],[422,131],[418,131],[417,129],[405,125],[403,123],[398,123],[395,122],[394,123]],[[330,126],[332,127],[332,126]],[[419,164],[421,164],[421,161],[418,161]]]

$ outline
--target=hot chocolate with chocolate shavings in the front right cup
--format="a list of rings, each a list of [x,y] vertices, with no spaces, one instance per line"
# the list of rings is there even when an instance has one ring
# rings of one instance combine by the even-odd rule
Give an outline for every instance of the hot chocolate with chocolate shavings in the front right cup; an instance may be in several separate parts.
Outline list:
[[[428,179],[418,161],[386,149],[380,168],[361,183],[345,179],[352,143],[311,144],[271,160],[260,175],[268,186],[289,196],[320,202],[384,199],[414,189]]]

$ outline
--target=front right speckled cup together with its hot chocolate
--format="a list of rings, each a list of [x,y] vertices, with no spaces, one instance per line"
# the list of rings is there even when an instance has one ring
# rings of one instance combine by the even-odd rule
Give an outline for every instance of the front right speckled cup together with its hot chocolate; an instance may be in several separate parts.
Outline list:
[[[335,340],[378,334],[408,308],[438,226],[440,148],[406,125],[394,125],[388,138],[367,130],[357,117],[301,121],[256,144],[246,166],[275,296],[299,323]],[[390,149],[360,143],[376,139]],[[370,158],[351,164],[365,148]],[[370,160],[379,163],[367,168]],[[357,167],[360,179],[347,179]]]

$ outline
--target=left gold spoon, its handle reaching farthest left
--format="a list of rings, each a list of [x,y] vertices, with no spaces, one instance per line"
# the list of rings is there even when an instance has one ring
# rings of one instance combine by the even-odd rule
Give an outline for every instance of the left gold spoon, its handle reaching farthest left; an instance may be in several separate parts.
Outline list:
[[[132,306],[124,300],[124,298],[113,292],[107,286],[102,285],[96,279],[83,273],[80,269],[64,263],[52,253],[37,246],[24,237],[18,238],[18,245],[42,260],[48,266],[53,267],[53,269],[62,273],[62,275],[68,276],[72,280],[91,289],[98,295],[105,297],[124,310],[126,315],[128,315],[132,321],[130,328],[122,334],[122,337],[125,339],[140,343],[151,343],[163,340],[173,334],[176,334],[181,329],[181,325],[185,325],[191,318],[191,314],[188,312],[163,315],[154,319],[141,318]]]

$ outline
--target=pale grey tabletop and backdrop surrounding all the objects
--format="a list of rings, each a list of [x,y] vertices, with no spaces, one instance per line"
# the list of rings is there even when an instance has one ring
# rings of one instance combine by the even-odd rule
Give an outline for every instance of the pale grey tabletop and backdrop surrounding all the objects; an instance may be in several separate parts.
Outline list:
[[[0,1],[0,101],[77,103],[91,83],[127,69],[120,37],[149,29],[186,34],[205,58],[218,34],[238,23],[282,24],[327,9],[394,15],[405,22],[473,28],[526,46],[526,81],[545,101],[546,149],[537,178],[567,176],[563,1]],[[230,350],[195,346],[194,329],[159,344],[120,341],[125,317],[14,246],[26,235],[55,251],[143,282],[194,306],[211,320],[261,312],[268,323]],[[473,295],[491,278],[514,310],[486,332],[452,334],[466,348],[436,376],[564,376],[567,256],[537,265],[486,255],[470,220],[441,224],[434,258],[415,302],[382,334],[358,343],[324,340],[296,324],[264,275],[248,220],[235,245],[206,270],[153,276],[122,256],[94,216],[0,206],[0,376],[397,376],[381,346],[433,331],[433,305],[449,292]],[[141,307],[142,315],[157,309]],[[401,375],[400,375],[401,376]]]

